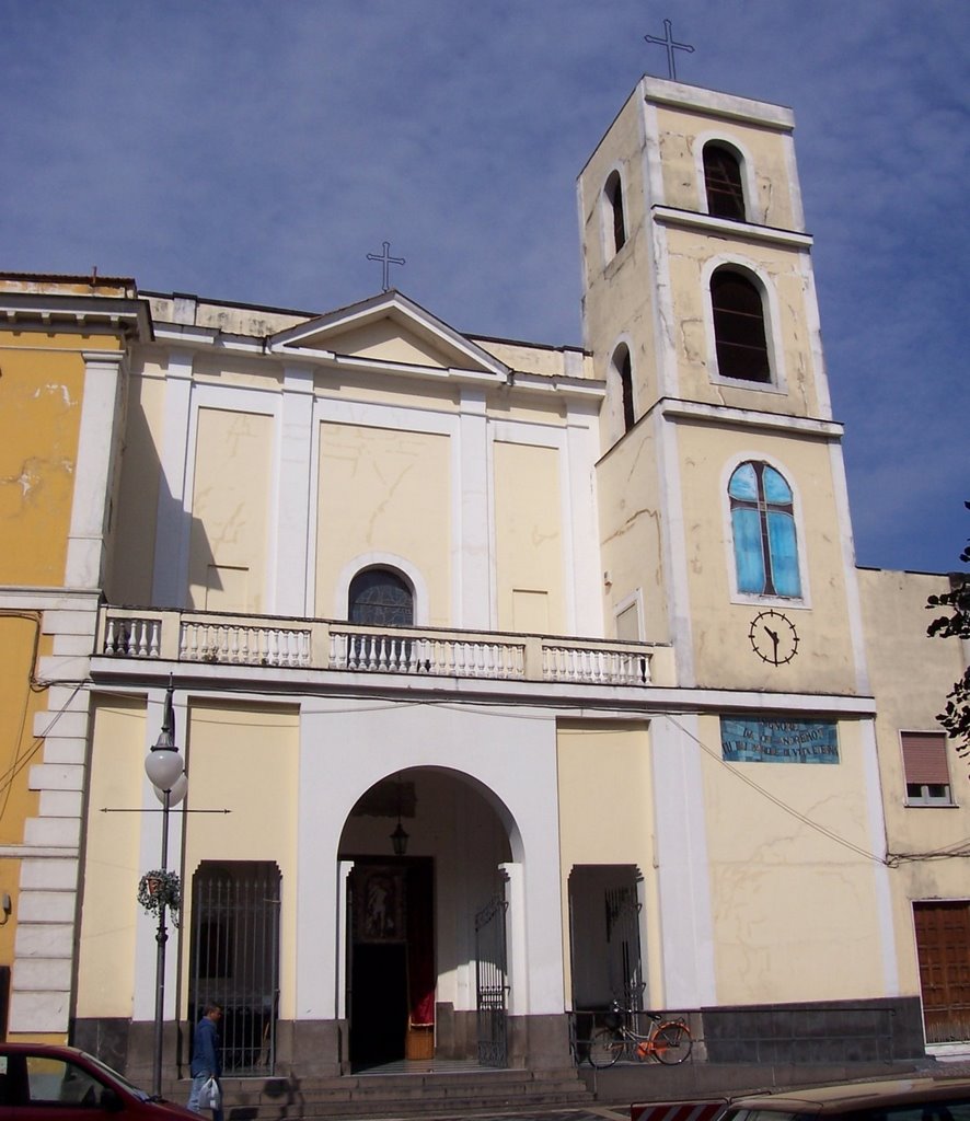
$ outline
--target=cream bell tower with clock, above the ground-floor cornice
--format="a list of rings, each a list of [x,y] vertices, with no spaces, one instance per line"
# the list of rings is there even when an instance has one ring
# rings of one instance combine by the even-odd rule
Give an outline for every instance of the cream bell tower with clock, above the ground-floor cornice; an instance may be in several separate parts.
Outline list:
[[[580,175],[606,628],[673,643],[681,685],[865,692],[793,131],[645,77]]]

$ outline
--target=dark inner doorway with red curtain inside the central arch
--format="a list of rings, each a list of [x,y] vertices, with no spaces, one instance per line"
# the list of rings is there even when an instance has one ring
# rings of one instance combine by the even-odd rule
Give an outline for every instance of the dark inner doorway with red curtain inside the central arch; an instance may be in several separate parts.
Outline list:
[[[418,1056],[434,1039],[433,862],[373,858],[350,876],[350,1060],[353,1067]]]

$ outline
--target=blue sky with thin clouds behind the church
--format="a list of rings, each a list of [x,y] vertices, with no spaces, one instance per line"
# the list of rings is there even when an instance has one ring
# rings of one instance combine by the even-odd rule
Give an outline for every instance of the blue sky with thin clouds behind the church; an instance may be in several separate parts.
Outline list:
[[[575,177],[673,22],[789,105],[860,564],[970,536],[970,0],[0,0],[0,269],[578,344]]]

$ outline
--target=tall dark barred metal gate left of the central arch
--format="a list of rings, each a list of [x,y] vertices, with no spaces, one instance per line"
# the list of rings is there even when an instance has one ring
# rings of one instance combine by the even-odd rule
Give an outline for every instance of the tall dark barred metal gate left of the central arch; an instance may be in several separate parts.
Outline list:
[[[192,880],[190,1016],[222,1008],[222,1068],[272,1074],[280,873],[269,861],[203,861]]]

